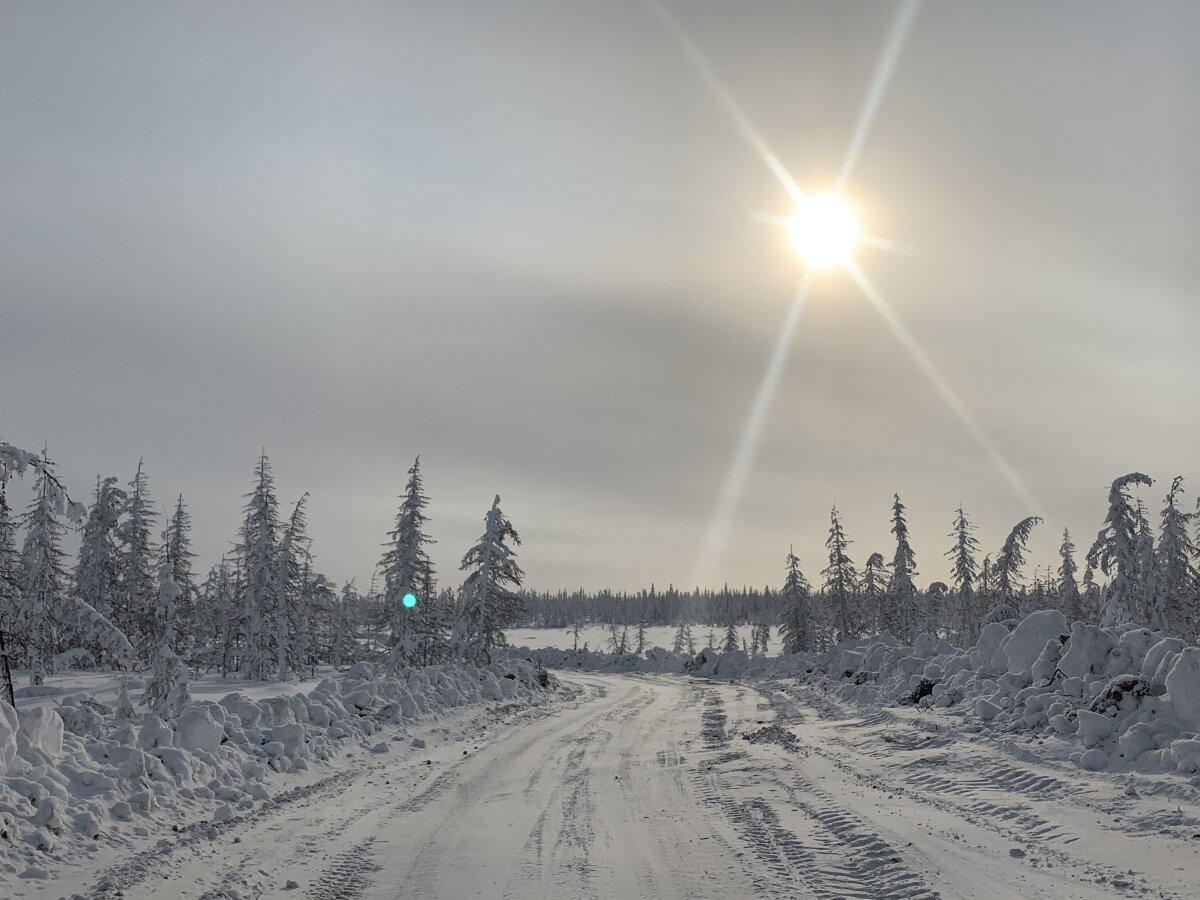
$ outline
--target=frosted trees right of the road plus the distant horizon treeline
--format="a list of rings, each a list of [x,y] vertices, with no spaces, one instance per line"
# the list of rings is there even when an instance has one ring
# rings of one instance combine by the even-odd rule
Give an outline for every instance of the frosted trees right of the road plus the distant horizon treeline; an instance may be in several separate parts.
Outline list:
[[[952,577],[918,588],[917,556],[906,508],[895,496],[892,505],[890,558],[871,553],[862,566],[851,557],[852,540],[841,515],[830,512],[827,554],[814,581],[792,551],[784,558],[780,588],[679,590],[655,586],[636,593],[612,590],[523,592],[529,628],[575,629],[584,624],[620,626],[672,625],[678,652],[695,646],[694,624],[726,626],[728,648],[733,625],[752,625],[754,641],[745,649],[766,649],[770,629],[778,628],[785,650],[821,650],[842,640],[888,632],[902,641],[918,634],[940,634],[962,646],[972,644],[992,622],[1012,623],[1038,610],[1061,610],[1069,620],[1114,626],[1136,623],[1190,643],[1200,638],[1200,557],[1193,536],[1198,512],[1181,506],[1183,479],[1176,478],[1151,522],[1145,504],[1133,496],[1153,479],[1132,473],[1116,479],[1109,491],[1108,512],[1091,547],[1080,556],[1070,532],[1063,529],[1057,566],[1027,569],[1027,545],[1038,516],[1016,523],[1003,545],[983,554],[967,512],[954,512],[947,547]],[[619,638],[611,642],[619,646]],[[628,641],[635,646],[632,638]]]

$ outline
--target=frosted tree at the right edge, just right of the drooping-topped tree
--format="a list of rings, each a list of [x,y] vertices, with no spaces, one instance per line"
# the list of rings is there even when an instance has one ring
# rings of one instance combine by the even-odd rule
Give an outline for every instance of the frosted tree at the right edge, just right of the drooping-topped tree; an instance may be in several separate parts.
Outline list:
[[[1196,572],[1196,545],[1192,540],[1194,512],[1180,509],[1183,478],[1177,476],[1166,493],[1163,506],[1163,528],[1158,539],[1156,592],[1151,602],[1151,628],[1165,630],[1189,642],[1198,637],[1200,629],[1200,575]]]

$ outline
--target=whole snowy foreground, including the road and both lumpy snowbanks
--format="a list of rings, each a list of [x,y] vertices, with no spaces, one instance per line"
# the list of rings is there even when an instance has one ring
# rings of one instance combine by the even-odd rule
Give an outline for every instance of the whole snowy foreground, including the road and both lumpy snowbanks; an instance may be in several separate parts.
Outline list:
[[[1184,900],[1198,654],[1049,611],[967,649],[544,647],[490,671],[202,683],[223,712],[92,737],[80,694],[23,697],[0,895]],[[550,690],[523,656],[557,667]]]

